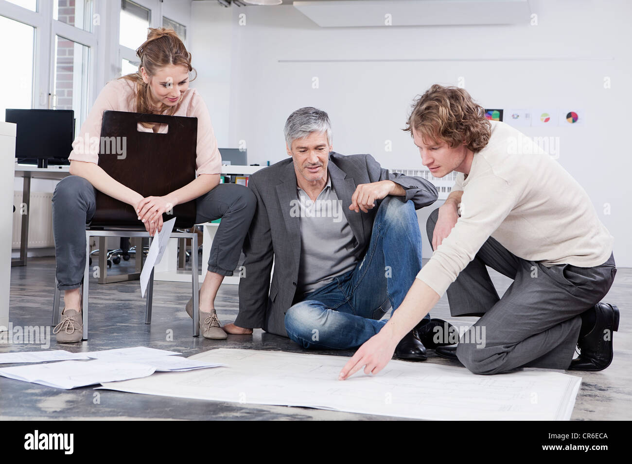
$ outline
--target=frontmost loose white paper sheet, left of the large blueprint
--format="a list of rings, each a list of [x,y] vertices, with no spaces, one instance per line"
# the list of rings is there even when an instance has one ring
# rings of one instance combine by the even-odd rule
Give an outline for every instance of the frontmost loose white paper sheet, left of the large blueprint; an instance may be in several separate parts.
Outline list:
[[[154,367],[143,364],[89,360],[2,367],[0,368],[0,376],[70,390],[71,388],[102,382],[116,382],[150,376],[154,371]]]

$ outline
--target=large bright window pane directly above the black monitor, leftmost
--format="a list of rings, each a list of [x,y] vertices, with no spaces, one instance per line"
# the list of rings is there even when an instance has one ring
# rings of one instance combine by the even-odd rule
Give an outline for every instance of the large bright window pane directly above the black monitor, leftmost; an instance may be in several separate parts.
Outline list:
[[[33,44],[35,28],[0,16],[0,43],[13,44],[4,47],[3,60],[11,63],[16,72],[0,73],[0,121],[4,121],[7,108],[31,109],[33,107]]]

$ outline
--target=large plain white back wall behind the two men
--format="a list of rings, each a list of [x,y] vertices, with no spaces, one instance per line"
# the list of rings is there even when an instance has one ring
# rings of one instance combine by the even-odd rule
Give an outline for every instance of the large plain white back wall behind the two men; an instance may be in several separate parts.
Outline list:
[[[219,144],[245,140],[249,162],[259,164],[287,156],[284,122],[312,105],[329,113],[336,152],[372,153],[386,167],[420,167],[410,136],[400,130],[412,99],[432,83],[457,85],[459,77],[484,107],[584,109],[584,126],[523,132],[559,137],[559,162],[616,238],[617,265],[630,267],[632,4],[531,5],[537,26],[525,18],[509,26],[320,28],[291,5],[228,9],[195,1],[190,47],[200,73],[193,85],[209,102]]]

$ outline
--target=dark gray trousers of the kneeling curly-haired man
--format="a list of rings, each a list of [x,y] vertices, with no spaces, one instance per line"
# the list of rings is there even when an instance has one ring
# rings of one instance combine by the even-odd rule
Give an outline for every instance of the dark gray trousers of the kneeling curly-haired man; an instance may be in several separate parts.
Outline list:
[[[432,211],[426,225],[431,243],[438,213]],[[486,265],[514,281],[502,298]],[[475,374],[515,367],[568,369],[580,314],[607,294],[616,272],[612,255],[593,268],[547,267],[518,258],[489,237],[447,289],[452,316],[480,316],[461,335],[458,359]]]

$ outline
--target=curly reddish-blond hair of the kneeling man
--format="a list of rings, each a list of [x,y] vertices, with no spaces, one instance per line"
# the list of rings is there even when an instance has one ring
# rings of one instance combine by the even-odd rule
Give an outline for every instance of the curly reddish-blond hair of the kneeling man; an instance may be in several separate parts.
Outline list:
[[[432,85],[417,95],[406,128],[422,134],[424,139],[446,141],[451,148],[466,144],[472,152],[485,148],[491,136],[491,125],[485,109],[463,88]]]

